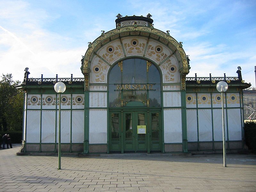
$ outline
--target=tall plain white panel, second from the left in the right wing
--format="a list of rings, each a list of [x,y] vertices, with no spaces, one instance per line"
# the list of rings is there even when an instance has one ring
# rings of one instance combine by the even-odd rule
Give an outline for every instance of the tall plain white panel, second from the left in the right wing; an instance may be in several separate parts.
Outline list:
[[[211,109],[198,110],[199,141],[212,141],[212,111]]]

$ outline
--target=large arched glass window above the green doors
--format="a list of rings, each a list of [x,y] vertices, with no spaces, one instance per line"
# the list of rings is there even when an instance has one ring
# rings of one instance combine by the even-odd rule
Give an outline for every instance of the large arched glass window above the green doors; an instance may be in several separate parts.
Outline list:
[[[161,107],[160,74],[143,59],[116,63],[108,76],[109,107]]]

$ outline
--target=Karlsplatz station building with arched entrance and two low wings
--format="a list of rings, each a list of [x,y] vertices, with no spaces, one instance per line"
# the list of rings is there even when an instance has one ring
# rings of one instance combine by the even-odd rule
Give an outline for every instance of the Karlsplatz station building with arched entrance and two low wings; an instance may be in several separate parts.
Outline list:
[[[81,61],[84,78],[28,78],[26,68],[18,87],[25,100],[20,152],[58,151],[59,94],[53,86],[59,81],[67,87],[61,94],[62,152],[222,150],[219,81],[228,83],[227,149],[243,149],[242,90],[251,85],[239,70],[236,77],[187,77],[182,42],[154,28],[150,14],[118,14],[116,28],[89,42]]]

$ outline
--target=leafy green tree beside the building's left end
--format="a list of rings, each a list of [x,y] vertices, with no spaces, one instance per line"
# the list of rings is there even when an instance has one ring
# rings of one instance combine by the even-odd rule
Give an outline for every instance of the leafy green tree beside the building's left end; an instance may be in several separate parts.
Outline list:
[[[23,93],[15,88],[19,81],[12,80],[12,74],[1,76],[0,80],[0,129],[22,130]]]

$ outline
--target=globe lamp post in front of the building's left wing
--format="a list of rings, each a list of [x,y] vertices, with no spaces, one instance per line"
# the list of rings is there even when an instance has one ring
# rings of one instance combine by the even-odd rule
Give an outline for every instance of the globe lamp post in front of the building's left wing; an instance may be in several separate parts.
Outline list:
[[[66,91],[66,85],[62,82],[57,82],[54,85],[55,92],[59,93],[59,144],[58,144],[58,169],[61,169],[61,134],[60,134],[60,93],[63,93]]]

